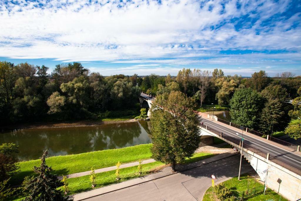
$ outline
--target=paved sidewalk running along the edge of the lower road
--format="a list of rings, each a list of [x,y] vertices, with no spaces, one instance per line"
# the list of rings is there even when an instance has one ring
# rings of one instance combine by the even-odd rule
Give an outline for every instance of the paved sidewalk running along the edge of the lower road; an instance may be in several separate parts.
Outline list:
[[[236,152],[236,151],[230,151],[230,152],[226,152],[226,153],[223,153],[223,154],[216,155],[216,156],[208,158],[208,159],[204,159],[204,160],[201,160],[201,161],[190,163],[190,164],[187,164],[187,165],[177,165],[177,171],[178,172],[187,171],[187,170],[190,170],[192,168],[201,167],[203,165],[210,164],[210,163],[213,163],[213,162],[216,162],[215,163],[216,167],[219,167],[219,169],[223,169],[223,168],[225,168],[225,164],[227,164],[227,162],[229,162],[229,160],[227,158],[230,158],[230,157],[232,157],[234,155],[237,155],[237,154],[238,154],[238,152]],[[238,160],[239,160],[239,157],[236,157],[236,158],[238,158]],[[219,161],[222,160],[222,159],[225,159],[225,162],[220,163]],[[231,160],[231,161],[233,161],[233,160]],[[244,163],[245,163],[244,166],[247,166],[248,169],[250,169],[251,166],[246,161]],[[229,165],[226,165],[226,166],[229,166]],[[237,166],[237,168],[238,168],[238,166]],[[73,198],[74,200],[87,199],[87,198],[95,197],[95,196],[102,195],[102,194],[105,194],[105,193],[110,193],[110,192],[113,192],[113,191],[116,191],[116,190],[132,187],[132,186],[135,186],[137,184],[143,184],[145,182],[157,180],[157,179],[162,178],[162,177],[177,174],[178,172],[173,173],[172,170],[171,170],[171,167],[166,167],[162,171],[154,173],[154,174],[149,174],[149,175],[146,175],[144,177],[138,177],[138,178],[131,179],[131,180],[124,181],[124,182],[120,182],[120,183],[117,183],[117,184],[112,184],[112,185],[97,188],[97,189],[94,189],[94,190],[89,190],[89,191],[85,191],[85,192],[82,192],[82,193],[77,193],[77,194],[71,195],[70,198]],[[100,199],[100,198],[98,198],[98,199]],[[120,199],[123,199],[123,196],[121,196]],[[147,198],[145,197],[144,200],[145,199],[147,199]]]

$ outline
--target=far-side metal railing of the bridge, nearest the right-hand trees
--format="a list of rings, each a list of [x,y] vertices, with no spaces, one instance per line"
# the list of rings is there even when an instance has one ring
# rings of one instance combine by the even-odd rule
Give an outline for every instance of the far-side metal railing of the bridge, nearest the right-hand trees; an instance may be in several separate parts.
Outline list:
[[[265,135],[265,134],[263,134],[263,133],[260,133],[260,132],[258,132],[258,131],[256,131],[256,130],[251,130],[251,129],[249,129],[249,128],[246,128],[246,127],[243,127],[243,126],[234,124],[234,123],[232,123],[232,122],[229,122],[229,121],[226,121],[226,120],[223,120],[223,119],[220,119],[220,118],[217,118],[217,121],[220,121],[220,122],[222,122],[222,123],[224,123],[224,124],[228,124],[229,126],[238,128],[238,129],[240,129],[240,130],[244,130],[244,131],[246,131],[246,132],[252,133],[252,134],[257,135],[257,136],[259,136],[259,137],[267,136],[267,135]],[[272,136],[268,136],[267,140],[271,140],[271,141],[273,141],[273,142],[275,142],[275,143],[278,143],[278,144],[287,146],[287,147],[289,147],[289,148],[291,148],[291,149],[294,149],[294,150],[296,150],[296,151],[299,151],[297,145],[292,144],[292,143],[289,143],[289,142],[286,142],[286,141],[284,141],[284,140],[280,140],[280,139],[275,138],[275,137],[272,137]]]

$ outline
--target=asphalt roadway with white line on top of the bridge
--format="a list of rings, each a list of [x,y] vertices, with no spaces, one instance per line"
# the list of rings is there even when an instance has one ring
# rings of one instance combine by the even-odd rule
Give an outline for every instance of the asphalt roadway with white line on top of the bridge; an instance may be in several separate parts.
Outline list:
[[[236,130],[233,130],[231,128],[225,127],[219,123],[216,123],[214,121],[210,121],[208,119],[203,119],[204,125],[207,125],[217,131],[222,132],[223,134],[226,134],[232,138],[235,138],[236,140],[240,140],[241,138],[236,134],[238,133]],[[241,135],[241,132],[239,133]],[[205,135],[203,133],[203,135]],[[253,146],[257,149],[260,149],[266,153],[270,153],[270,155],[281,159],[282,161],[285,161],[291,165],[294,165],[295,167],[301,168],[301,156],[294,154],[292,152],[288,152],[284,149],[281,149],[275,145],[272,145],[270,143],[266,143],[265,141],[259,140],[257,138],[253,138],[247,135],[244,135],[244,143],[247,143],[250,146]]]

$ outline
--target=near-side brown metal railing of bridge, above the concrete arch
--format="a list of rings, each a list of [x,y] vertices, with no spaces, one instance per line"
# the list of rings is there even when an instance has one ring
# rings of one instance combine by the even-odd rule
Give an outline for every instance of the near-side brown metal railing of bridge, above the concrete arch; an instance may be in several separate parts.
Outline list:
[[[231,123],[231,124],[232,124],[232,123]],[[209,131],[211,131],[212,133],[215,133],[215,134],[218,135],[222,140],[223,140],[223,139],[224,139],[224,140],[228,140],[228,141],[230,141],[230,142],[232,142],[232,143],[234,143],[234,144],[236,144],[236,145],[238,145],[238,146],[241,146],[241,141],[240,141],[240,140],[236,140],[235,138],[230,137],[230,136],[228,136],[227,134],[224,134],[224,133],[222,133],[222,132],[220,132],[220,131],[218,131],[218,130],[215,130],[215,129],[209,127],[208,125],[200,124],[200,126],[203,127],[203,128],[205,128],[205,129],[207,129],[207,130],[209,130]],[[253,146],[250,146],[250,145],[248,145],[247,143],[244,143],[243,148],[244,148],[244,149],[248,149],[248,150],[250,150],[250,151],[252,151],[252,152],[254,152],[254,153],[256,153],[256,154],[258,154],[258,155],[260,155],[260,156],[262,156],[262,157],[264,157],[264,158],[267,158],[267,156],[268,156],[268,153],[266,153],[266,152],[264,152],[264,151],[262,151],[262,150],[260,150],[260,149],[257,149],[257,148],[255,148],[255,147],[253,147]],[[288,170],[290,170],[290,171],[296,173],[296,174],[301,175],[301,168],[297,168],[297,167],[295,167],[295,166],[293,166],[293,165],[290,165],[289,163],[284,162],[284,161],[282,161],[281,159],[278,159],[278,158],[276,158],[276,157],[274,157],[274,156],[271,156],[271,155],[269,155],[269,158],[268,158],[268,159],[269,159],[270,161],[272,161],[272,162],[274,162],[274,163],[276,163],[276,164],[278,164],[278,165],[281,165],[282,167],[284,167],[284,168],[286,168],[286,169],[288,169]]]

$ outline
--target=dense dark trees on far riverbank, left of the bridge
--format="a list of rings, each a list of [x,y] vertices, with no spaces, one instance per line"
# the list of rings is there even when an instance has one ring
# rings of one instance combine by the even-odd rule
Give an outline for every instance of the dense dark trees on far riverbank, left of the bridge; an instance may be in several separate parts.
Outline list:
[[[138,101],[137,80],[103,77],[81,63],[48,67],[0,62],[1,123],[96,118],[107,110],[131,108]],[[139,80],[138,80],[139,81]]]

